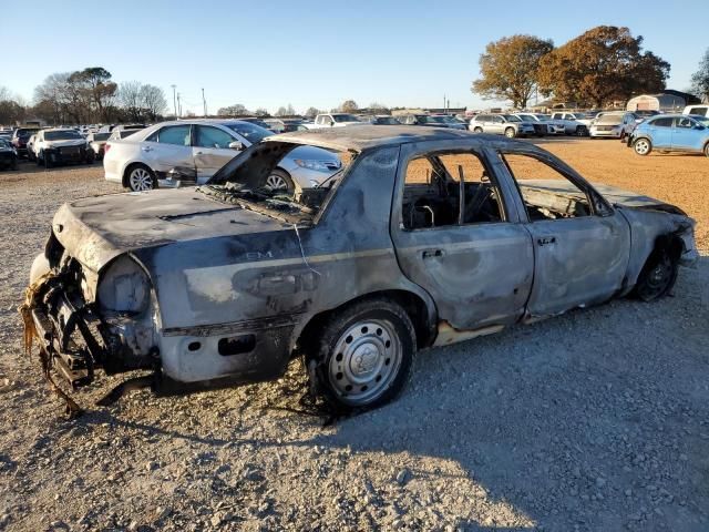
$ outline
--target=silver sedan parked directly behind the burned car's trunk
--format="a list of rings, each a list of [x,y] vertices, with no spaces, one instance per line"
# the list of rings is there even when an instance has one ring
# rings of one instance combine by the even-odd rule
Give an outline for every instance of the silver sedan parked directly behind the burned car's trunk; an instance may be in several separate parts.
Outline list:
[[[270,131],[238,120],[163,122],[126,139],[110,140],[103,157],[105,178],[136,192],[202,184],[243,150],[269,135]],[[340,167],[332,152],[304,146],[286,155],[265,184],[287,193],[296,190],[296,184],[311,188]]]

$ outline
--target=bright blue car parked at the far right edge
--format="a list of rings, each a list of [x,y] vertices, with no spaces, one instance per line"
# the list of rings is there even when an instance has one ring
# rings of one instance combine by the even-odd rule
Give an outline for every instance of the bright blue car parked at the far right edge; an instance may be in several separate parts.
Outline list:
[[[660,150],[703,153],[709,157],[709,117],[698,114],[659,114],[635,129],[631,144],[638,155]]]

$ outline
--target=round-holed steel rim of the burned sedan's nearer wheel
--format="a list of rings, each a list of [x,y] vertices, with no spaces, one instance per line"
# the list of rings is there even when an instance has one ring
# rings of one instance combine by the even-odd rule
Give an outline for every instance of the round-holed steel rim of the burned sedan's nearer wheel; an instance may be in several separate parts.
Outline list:
[[[352,406],[367,405],[389,388],[402,361],[393,324],[368,319],[350,326],[338,339],[328,368],[332,389]]]

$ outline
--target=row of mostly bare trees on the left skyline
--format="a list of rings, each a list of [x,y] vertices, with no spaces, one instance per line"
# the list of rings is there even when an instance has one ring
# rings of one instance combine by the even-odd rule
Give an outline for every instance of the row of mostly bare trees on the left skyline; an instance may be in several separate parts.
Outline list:
[[[54,125],[154,122],[166,110],[167,101],[160,86],[138,81],[117,84],[102,66],[47,76],[34,88],[31,105],[0,88],[0,124],[28,119]]]

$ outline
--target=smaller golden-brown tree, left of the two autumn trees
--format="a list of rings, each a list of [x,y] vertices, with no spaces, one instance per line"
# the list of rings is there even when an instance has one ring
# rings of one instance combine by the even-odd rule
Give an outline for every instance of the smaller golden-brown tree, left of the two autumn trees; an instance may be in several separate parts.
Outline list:
[[[480,55],[482,78],[473,81],[472,91],[526,108],[537,84],[540,61],[553,49],[552,41],[534,35],[503,37],[489,43]]]

